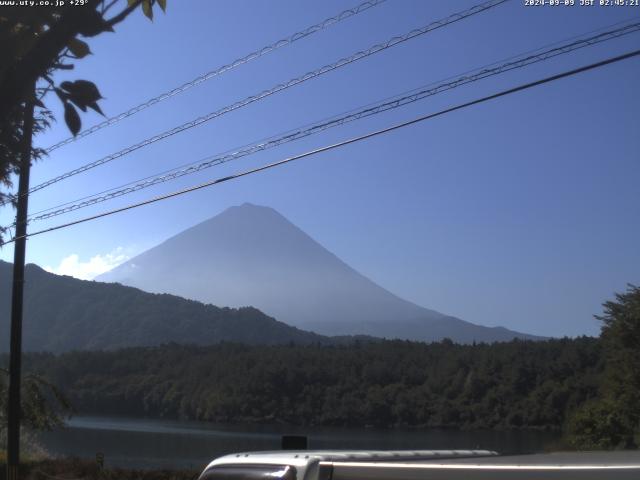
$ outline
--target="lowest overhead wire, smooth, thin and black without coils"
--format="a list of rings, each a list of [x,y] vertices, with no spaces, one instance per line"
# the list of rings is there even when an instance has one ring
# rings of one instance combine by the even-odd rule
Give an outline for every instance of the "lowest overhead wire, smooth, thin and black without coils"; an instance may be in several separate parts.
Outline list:
[[[579,67],[579,68],[575,68],[573,70],[568,70],[568,71],[565,71],[565,72],[562,72],[562,73],[558,73],[558,74],[552,75],[550,77],[545,77],[545,78],[542,78],[540,80],[536,80],[534,82],[525,83],[525,84],[519,85],[517,87],[510,88],[510,89],[507,89],[507,90],[502,90],[502,91],[500,91],[498,93],[494,93],[494,94],[488,95],[486,97],[482,97],[482,98],[479,98],[479,99],[476,99],[476,100],[472,100],[470,102],[458,104],[458,105],[456,105],[454,107],[450,107],[450,108],[447,108],[447,109],[444,109],[444,110],[440,110],[440,111],[435,112],[435,113],[430,113],[430,114],[427,114],[427,115],[423,115],[423,116],[414,118],[412,120],[408,120],[406,122],[398,123],[398,124],[392,125],[390,127],[383,128],[381,130],[376,130],[376,131],[373,131],[373,132],[369,132],[369,133],[367,133],[365,135],[361,135],[361,136],[358,136],[358,137],[353,137],[353,138],[350,138],[348,140],[343,140],[341,142],[334,143],[332,145],[327,145],[327,146],[324,146],[324,147],[321,147],[321,148],[317,148],[317,149],[314,149],[314,150],[310,150],[308,152],[301,153],[299,155],[295,155],[295,156],[292,156],[292,157],[287,157],[287,158],[284,158],[284,159],[279,160],[277,162],[273,162],[273,163],[269,163],[267,165],[263,165],[261,167],[252,168],[252,169],[249,169],[249,170],[245,170],[245,171],[242,171],[242,172],[235,173],[233,175],[217,178],[215,180],[210,180],[208,182],[201,183],[199,185],[194,185],[194,186],[191,186],[191,187],[188,187],[188,188],[185,188],[185,189],[182,189],[182,190],[178,190],[178,191],[175,191],[175,192],[172,192],[172,193],[168,193],[168,194],[165,194],[165,195],[160,195],[160,196],[157,196],[157,197],[153,197],[153,198],[144,200],[142,202],[137,202],[137,203],[133,203],[133,204],[127,205],[125,207],[120,207],[120,208],[116,208],[116,209],[113,209],[113,210],[108,210],[106,212],[102,212],[102,213],[98,213],[96,215],[91,215],[91,216],[88,216],[88,217],[84,217],[84,218],[81,218],[79,220],[74,220],[72,222],[64,223],[64,224],[61,224],[61,225],[56,225],[54,227],[45,228],[43,230],[38,230],[36,232],[26,234],[26,235],[24,235],[22,237],[15,237],[15,238],[12,238],[11,240],[8,240],[7,242],[2,243],[0,246],[6,245],[8,243],[15,242],[19,238],[28,238],[28,237],[33,237],[35,235],[41,235],[43,233],[48,233],[48,232],[52,232],[52,231],[55,231],[55,230],[60,230],[62,228],[67,228],[67,227],[71,227],[73,225],[78,225],[80,223],[85,223],[85,222],[88,222],[88,221],[91,221],[91,220],[96,220],[98,218],[103,218],[103,217],[106,217],[106,216],[114,215],[116,213],[124,212],[126,210],[131,210],[131,209],[134,209],[134,208],[142,207],[144,205],[149,205],[151,203],[159,202],[161,200],[167,200],[169,198],[177,197],[179,195],[183,195],[183,194],[186,194],[186,193],[194,192],[196,190],[200,190],[200,189],[203,189],[203,188],[206,188],[206,187],[210,187],[210,186],[217,185],[217,184],[220,184],[220,183],[228,182],[230,180],[235,180],[235,179],[238,179],[238,178],[241,178],[241,177],[244,177],[244,176],[247,176],[247,175],[251,175],[251,174],[254,174],[254,173],[258,173],[258,172],[261,172],[261,171],[264,171],[264,170],[269,170],[271,168],[275,168],[275,167],[284,165],[286,163],[293,162],[295,160],[300,160],[302,158],[310,157],[312,155],[317,155],[318,153],[327,152],[329,150],[333,150],[333,149],[336,149],[336,148],[344,147],[344,146],[350,145],[352,143],[356,143],[356,142],[360,142],[360,141],[363,141],[363,140],[367,140],[369,138],[373,138],[373,137],[376,137],[378,135],[383,135],[385,133],[389,133],[389,132],[392,132],[394,130],[398,130],[400,128],[408,127],[410,125],[414,125],[416,123],[420,123],[420,122],[423,122],[425,120],[429,120],[429,119],[432,119],[432,118],[435,118],[435,117],[439,117],[439,116],[445,115],[447,113],[451,113],[451,112],[454,112],[454,111],[457,111],[457,110],[462,110],[464,108],[471,107],[473,105],[478,105],[480,103],[488,102],[490,100],[494,100],[494,99],[499,98],[499,97],[503,97],[503,96],[506,96],[506,95],[510,95],[512,93],[516,93],[516,92],[520,92],[520,91],[523,91],[523,90],[527,90],[527,89],[530,89],[530,88],[533,88],[533,87],[537,87],[539,85],[543,85],[543,84],[550,83],[550,82],[553,82],[553,81],[556,81],[556,80],[559,80],[559,79],[562,79],[562,78],[566,78],[566,77],[570,77],[570,76],[573,76],[573,75],[577,75],[579,73],[583,73],[583,72],[586,72],[586,71],[589,71],[589,70],[594,70],[596,68],[600,68],[600,67],[603,67],[605,65],[609,65],[609,64],[612,64],[612,63],[615,63],[615,62],[620,62],[622,60],[626,60],[626,59],[629,59],[629,58],[632,58],[632,57],[635,57],[635,56],[638,56],[638,55],[640,55],[640,50],[634,50],[632,52],[625,53],[623,55],[618,55],[616,57],[611,57],[611,58],[608,58],[608,59],[605,59],[605,60],[602,60],[602,61],[599,61],[599,62],[596,62],[596,63],[585,65],[585,66],[582,66],[582,67]]]

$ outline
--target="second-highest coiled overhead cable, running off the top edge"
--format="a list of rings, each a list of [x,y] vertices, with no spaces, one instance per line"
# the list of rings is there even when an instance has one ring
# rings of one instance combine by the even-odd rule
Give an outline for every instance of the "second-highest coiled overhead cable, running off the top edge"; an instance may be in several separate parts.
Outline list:
[[[295,85],[307,82],[313,78],[319,77],[321,75],[324,75],[326,73],[329,73],[333,70],[337,70],[341,67],[344,67],[346,65],[349,65],[351,63],[357,62],[358,60],[361,60],[363,58],[367,58],[371,55],[374,55],[376,53],[379,53],[381,51],[384,51],[388,48],[394,47],[396,45],[399,45],[401,43],[404,43],[408,40],[412,40],[416,37],[419,37],[421,35],[424,35],[428,32],[431,32],[433,30],[436,30],[438,28],[444,27],[446,25],[450,25],[452,23],[458,22],[460,20],[463,20],[465,18],[471,17],[473,15],[476,15],[478,13],[484,12],[486,10],[489,10],[493,7],[496,7],[498,5],[501,5],[505,2],[507,2],[508,0],[489,0],[487,2],[478,4],[478,5],[474,5],[473,7],[464,10],[462,12],[458,12],[458,13],[454,13],[442,20],[438,20],[435,22],[432,22],[422,28],[417,28],[414,30],[411,30],[410,32],[405,33],[404,35],[400,35],[400,36],[395,36],[390,38],[389,40],[387,40],[384,43],[379,43],[377,45],[374,45],[366,50],[361,50],[359,52],[354,53],[353,55],[350,55],[349,57],[345,57],[342,58],[340,60],[338,60],[337,62],[325,65],[321,68],[318,68],[316,70],[313,70],[311,72],[307,72],[304,75],[300,76],[300,77],[296,77],[294,79],[289,80],[288,82],[285,83],[281,83],[279,85],[276,85],[275,87],[272,87],[268,90],[264,90],[263,92],[257,94],[257,95],[252,95],[250,97],[245,98],[244,100],[240,100],[236,103],[233,103],[231,105],[228,105],[226,107],[223,107],[222,109],[216,110],[214,112],[208,113],[202,117],[198,117],[195,120],[192,120],[190,122],[186,122],[183,123],[182,125],[179,125],[177,127],[174,127],[170,130],[167,130],[163,133],[157,134],[153,137],[150,137],[146,140],[143,140],[142,142],[139,142],[135,145],[129,146],[127,148],[124,148],[123,150],[120,150],[116,153],[112,153],[111,155],[107,155],[106,157],[103,157],[101,159],[95,160],[91,163],[85,164],[81,167],[78,167],[74,170],[70,170],[66,173],[63,173],[62,175],[59,175],[55,178],[52,178],[50,180],[47,180],[39,185],[36,185],[34,187],[32,187],[31,189],[29,189],[29,193],[33,193],[36,192],[38,190],[42,190],[43,188],[46,188],[50,185],[53,185],[54,183],[58,183],[62,180],[65,180],[69,177],[78,175],[80,173],[86,172],[87,170],[90,170],[92,168],[98,167],[100,165],[104,165],[105,163],[111,162],[117,158],[123,157],[131,152],[134,152],[136,150],[139,150],[140,148],[146,147],[147,145],[151,145],[152,143],[155,143],[157,141],[163,140],[167,137],[170,137],[172,135],[175,135],[177,133],[181,133],[185,130],[188,130],[190,128],[199,126],[205,122],[208,122],[210,120],[213,120],[214,118],[220,117],[226,113],[229,113],[231,111],[237,110],[239,108],[245,107],[251,103],[257,102],[259,100],[262,100],[264,98],[267,98],[271,95],[274,95],[278,92],[281,92],[283,90],[286,90],[288,88],[291,88]],[[10,202],[13,198],[15,197],[10,197],[8,200],[6,200],[4,204]]]

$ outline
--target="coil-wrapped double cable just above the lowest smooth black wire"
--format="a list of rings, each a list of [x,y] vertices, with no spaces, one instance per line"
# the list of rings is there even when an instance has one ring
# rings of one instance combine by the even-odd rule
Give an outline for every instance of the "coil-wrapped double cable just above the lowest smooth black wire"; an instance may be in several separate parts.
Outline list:
[[[639,30],[640,30],[640,22],[636,22],[634,24],[625,25],[614,30],[599,33],[597,35],[592,35],[591,37],[588,37],[588,38],[582,38],[570,43],[562,44],[560,46],[557,46],[552,49],[544,50],[542,52],[538,51],[538,53],[535,53],[535,54],[531,54],[527,56],[525,56],[526,54],[521,54],[516,57],[510,57],[511,61],[508,61],[502,64],[493,63],[489,66],[472,70],[470,72],[467,72],[466,74],[463,74],[460,77],[455,78],[452,81],[448,81],[448,82],[441,81],[440,83],[431,83],[427,86],[430,88],[423,88],[422,90],[414,89],[411,92],[408,92],[408,94],[405,94],[401,97],[396,96],[395,98],[393,97],[387,98],[376,104],[370,104],[367,107],[364,107],[364,108],[361,107],[360,109],[352,110],[347,114],[343,114],[341,116],[335,116],[335,117],[332,117],[331,119],[322,120],[314,124],[306,125],[304,127],[299,127],[298,129],[289,130],[288,132],[284,134],[280,134],[279,136],[274,136],[269,139],[259,141],[258,143],[254,143],[254,144],[242,147],[240,149],[231,151],[229,153],[217,154],[215,156],[200,160],[199,162],[193,162],[183,167],[178,167],[175,169],[171,169],[171,170],[156,174],[155,176],[152,175],[134,182],[130,182],[126,185],[122,185],[121,187],[115,187],[94,195],[90,195],[77,200],[63,203],[61,205],[50,207],[48,209],[34,213],[33,215],[31,215],[31,218],[29,221],[33,222],[38,220],[46,220],[48,218],[56,217],[58,215],[69,213],[81,208],[89,207],[91,205],[96,205],[98,203],[102,203],[107,200],[112,200],[114,198],[121,197],[123,195],[128,195],[130,193],[134,193],[139,190],[152,187],[154,185],[158,185],[170,180],[174,180],[176,178],[180,178],[186,175],[200,172],[202,170],[211,168],[216,165],[221,165],[223,163],[227,163],[232,160],[237,160],[247,155],[251,155],[260,151],[264,151],[270,148],[283,145],[285,143],[299,140],[301,138],[305,138],[310,135],[323,132],[330,128],[344,125],[345,123],[349,123],[349,122],[360,120],[362,118],[366,118],[369,116],[377,115],[382,112],[393,110],[393,109],[417,102],[419,100],[423,100],[427,97],[437,95],[444,91],[452,90],[461,85],[466,85],[468,83],[482,80],[482,79],[491,77],[493,75],[498,75],[498,74],[515,70],[518,68],[523,68],[523,67],[532,65],[534,63],[542,62],[550,58],[554,58],[556,56],[563,55],[587,46],[596,45],[602,42],[613,40],[621,36],[637,32]]]

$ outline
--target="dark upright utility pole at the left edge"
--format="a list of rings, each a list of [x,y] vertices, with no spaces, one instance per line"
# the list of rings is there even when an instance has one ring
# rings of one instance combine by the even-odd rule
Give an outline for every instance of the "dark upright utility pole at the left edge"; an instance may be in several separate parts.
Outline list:
[[[24,294],[24,262],[27,246],[27,210],[29,204],[29,171],[35,85],[25,102],[22,120],[20,179],[16,210],[16,234],[13,252],[13,288],[11,291],[11,351],[9,354],[9,401],[7,402],[7,480],[18,480],[20,465],[20,384],[22,363],[22,300]]]

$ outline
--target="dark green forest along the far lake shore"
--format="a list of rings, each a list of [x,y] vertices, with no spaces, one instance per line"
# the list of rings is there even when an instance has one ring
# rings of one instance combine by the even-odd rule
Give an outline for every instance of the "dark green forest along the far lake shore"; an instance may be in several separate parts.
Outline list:
[[[165,345],[30,354],[82,413],[283,422],[560,428],[597,394],[598,339],[493,345]]]

